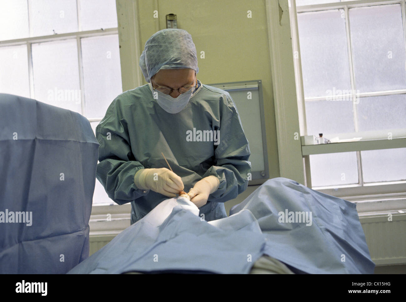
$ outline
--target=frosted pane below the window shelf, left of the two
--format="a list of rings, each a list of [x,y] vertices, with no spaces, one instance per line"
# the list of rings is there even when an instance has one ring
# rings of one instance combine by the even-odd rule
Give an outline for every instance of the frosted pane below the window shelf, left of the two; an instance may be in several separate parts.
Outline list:
[[[309,158],[312,187],[358,183],[356,152],[313,154]]]

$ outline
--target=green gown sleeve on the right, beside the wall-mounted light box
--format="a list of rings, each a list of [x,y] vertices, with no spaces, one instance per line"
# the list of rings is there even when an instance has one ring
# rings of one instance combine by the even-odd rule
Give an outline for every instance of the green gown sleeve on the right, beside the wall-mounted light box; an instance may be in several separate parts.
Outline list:
[[[220,127],[218,145],[215,146],[216,165],[203,175],[213,175],[220,180],[218,189],[209,195],[208,200],[226,202],[236,198],[248,186],[251,151],[242,129],[241,119],[233,99],[226,92],[220,97]]]

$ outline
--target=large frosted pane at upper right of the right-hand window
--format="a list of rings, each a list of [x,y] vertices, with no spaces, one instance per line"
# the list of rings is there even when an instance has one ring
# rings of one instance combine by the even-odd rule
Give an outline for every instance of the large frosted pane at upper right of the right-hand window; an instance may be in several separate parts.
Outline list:
[[[406,88],[400,4],[350,9],[355,86],[360,92]]]

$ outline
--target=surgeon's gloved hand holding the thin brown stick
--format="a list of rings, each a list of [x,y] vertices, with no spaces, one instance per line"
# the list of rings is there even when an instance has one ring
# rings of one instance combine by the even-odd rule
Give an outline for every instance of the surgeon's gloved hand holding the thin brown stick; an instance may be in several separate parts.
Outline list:
[[[184,189],[182,178],[166,168],[140,169],[134,175],[134,184],[138,189],[151,189],[168,197],[176,197]]]

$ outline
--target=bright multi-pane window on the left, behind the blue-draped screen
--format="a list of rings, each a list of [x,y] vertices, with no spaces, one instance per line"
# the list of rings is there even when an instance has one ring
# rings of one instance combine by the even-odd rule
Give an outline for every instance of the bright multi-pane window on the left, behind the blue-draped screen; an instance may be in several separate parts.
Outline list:
[[[95,131],[122,92],[116,1],[0,0],[0,7],[0,92],[76,111]],[[103,203],[115,204],[96,180],[93,204]]]

